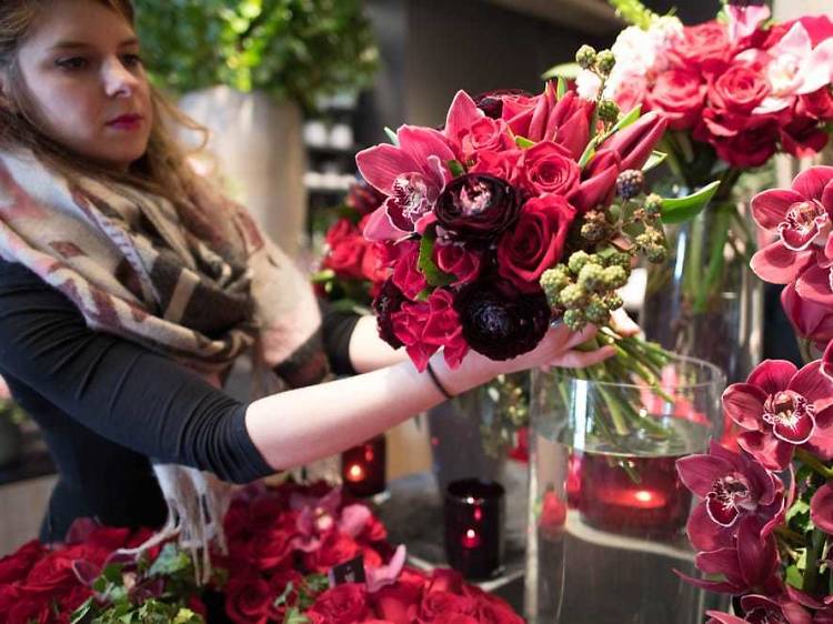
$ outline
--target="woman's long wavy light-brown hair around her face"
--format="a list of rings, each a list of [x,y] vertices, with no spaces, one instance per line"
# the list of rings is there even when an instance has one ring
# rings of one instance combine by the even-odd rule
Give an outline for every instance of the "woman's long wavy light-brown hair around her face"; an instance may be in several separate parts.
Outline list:
[[[134,26],[130,0],[96,0]],[[127,172],[108,169],[87,158],[79,158],[48,137],[33,114],[34,107],[18,66],[18,51],[32,32],[38,18],[50,10],[53,0],[0,0],[0,71],[7,77],[7,92],[0,100],[0,150],[28,149],[47,167],[72,180],[89,175],[104,183],[122,183],[160,194],[179,209],[195,191],[197,177],[187,163],[187,151],[172,131],[178,127],[202,134],[207,130],[171,104],[151,87],[153,125],[148,149]],[[191,150],[193,152],[195,150]]]

